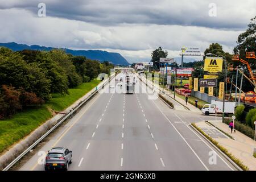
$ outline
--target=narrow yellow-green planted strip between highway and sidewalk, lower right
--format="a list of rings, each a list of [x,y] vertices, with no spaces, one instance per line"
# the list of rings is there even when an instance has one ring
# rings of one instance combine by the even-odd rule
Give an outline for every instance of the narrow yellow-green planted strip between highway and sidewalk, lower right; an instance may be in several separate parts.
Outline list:
[[[233,154],[231,154],[225,147],[221,146],[216,140],[214,140],[209,135],[205,134],[203,130],[200,129],[200,127],[197,127],[195,123],[191,123],[193,127],[195,127],[201,134],[204,135],[210,142],[212,142],[216,147],[218,147],[224,154],[226,154],[231,160],[233,160],[234,163],[237,164],[237,166],[241,167],[244,171],[249,171],[249,168],[245,166],[245,164],[242,163],[242,161]]]

